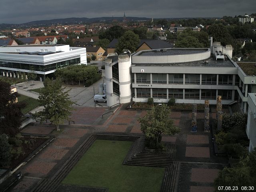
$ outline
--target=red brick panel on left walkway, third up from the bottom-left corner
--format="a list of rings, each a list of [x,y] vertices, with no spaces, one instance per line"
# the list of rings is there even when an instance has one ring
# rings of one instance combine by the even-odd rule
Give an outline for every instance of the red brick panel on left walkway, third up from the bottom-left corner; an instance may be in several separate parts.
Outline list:
[[[66,155],[68,150],[66,149],[57,149],[57,148],[48,148],[41,155],[41,159],[50,159],[50,160],[60,160]]]

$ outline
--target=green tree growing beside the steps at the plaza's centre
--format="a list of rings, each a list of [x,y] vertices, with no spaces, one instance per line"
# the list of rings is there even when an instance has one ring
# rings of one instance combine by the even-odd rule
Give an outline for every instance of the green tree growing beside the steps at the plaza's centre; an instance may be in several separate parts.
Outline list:
[[[174,135],[180,132],[180,128],[174,126],[174,120],[170,119],[170,113],[170,108],[166,104],[162,104],[152,106],[143,118],[138,118],[148,147],[158,149],[162,134]]]

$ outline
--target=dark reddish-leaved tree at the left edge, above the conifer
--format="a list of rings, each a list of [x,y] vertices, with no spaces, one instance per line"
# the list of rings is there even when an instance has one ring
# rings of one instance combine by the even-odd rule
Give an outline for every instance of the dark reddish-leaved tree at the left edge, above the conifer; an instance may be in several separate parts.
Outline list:
[[[18,93],[12,92],[10,84],[0,80],[0,134],[14,136],[21,125],[24,104],[16,102]]]

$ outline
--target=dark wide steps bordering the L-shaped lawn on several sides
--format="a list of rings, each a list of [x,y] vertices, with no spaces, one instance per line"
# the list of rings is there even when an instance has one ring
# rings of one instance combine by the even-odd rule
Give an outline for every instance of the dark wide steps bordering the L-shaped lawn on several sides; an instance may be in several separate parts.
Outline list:
[[[154,166],[165,167],[164,178],[161,186],[161,192],[176,192],[180,162],[174,162],[176,154],[176,145],[167,144],[165,153],[156,152],[146,149],[144,146],[144,138],[140,136],[122,136],[122,135],[100,135],[95,134],[87,138],[82,145],[74,152],[74,154],[66,161],[60,170],[54,174],[51,179],[41,179],[40,182],[33,188],[32,192],[54,192],[58,186],[90,148],[96,139],[100,140],[122,140],[134,141],[134,144],[128,152],[123,164],[133,166]],[[107,192],[108,189],[90,188],[92,192]],[[88,191],[90,191],[88,188]]]

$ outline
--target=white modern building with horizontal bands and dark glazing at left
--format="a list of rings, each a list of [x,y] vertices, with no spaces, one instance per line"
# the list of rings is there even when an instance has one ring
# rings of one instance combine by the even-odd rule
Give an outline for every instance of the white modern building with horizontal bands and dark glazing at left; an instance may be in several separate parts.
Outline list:
[[[0,47],[0,73],[29,73],[44,79],[58,68],[87,64],[86,48],[69,45],[18,45]]]

